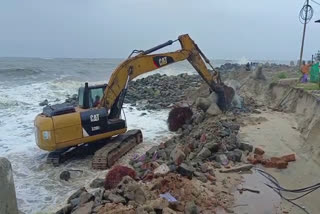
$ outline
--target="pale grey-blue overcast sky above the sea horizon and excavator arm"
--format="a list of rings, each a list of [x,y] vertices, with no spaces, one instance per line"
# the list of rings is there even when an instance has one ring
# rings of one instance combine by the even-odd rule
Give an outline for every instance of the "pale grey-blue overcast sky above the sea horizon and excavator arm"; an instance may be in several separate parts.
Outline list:
[[[297,59],[304,0],[1,0],[0,56],[127,57],[188,33],[215,59]],[[305,57],[320,49],[320,5]],[[172,50],[177,46],[172,47]],[[167,49],[166,49],[167,50]]]

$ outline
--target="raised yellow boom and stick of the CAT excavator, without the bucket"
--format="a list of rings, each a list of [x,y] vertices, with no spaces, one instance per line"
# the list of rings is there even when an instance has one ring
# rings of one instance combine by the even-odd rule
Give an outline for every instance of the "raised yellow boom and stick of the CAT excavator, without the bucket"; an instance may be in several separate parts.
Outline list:
[[[129,57],[115,69],[110,77],[104,97],[101,101],[102,107],[110,109],[110,119],[119,118],[127,86],[131,80],[141,74],[154,71],[158,68],[186,59],[191,63],[209,87],[218,94],[220,103],[223,103],[220,108],[225,108],[225,95],[223,92],[223,86],[221,86],[222,83],[219,73],[215,72],[213,74],[208,70],[205,62],[213,69],[210,61],[188,34],[179,36],[177,41],[181,44],[181,50],[150,55],[150,53],[154,51],[171,45],[174,41],[170,40],[149,50],[139,51],[138,55]]]

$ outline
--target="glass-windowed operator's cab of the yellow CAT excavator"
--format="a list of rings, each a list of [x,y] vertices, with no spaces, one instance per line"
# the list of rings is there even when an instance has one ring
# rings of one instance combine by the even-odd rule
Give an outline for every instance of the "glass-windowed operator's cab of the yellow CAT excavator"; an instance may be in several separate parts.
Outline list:
[[[89,86],[86,82],[78,91],[79,107],[82,109],[98,107],[106,87],[107,84]]]

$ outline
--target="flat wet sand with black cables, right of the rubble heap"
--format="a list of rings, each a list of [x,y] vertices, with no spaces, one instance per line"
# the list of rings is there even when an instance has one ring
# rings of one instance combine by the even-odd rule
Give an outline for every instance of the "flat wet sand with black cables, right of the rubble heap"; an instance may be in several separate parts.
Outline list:
[[[287,169],[264,169],[278,179],[281,186],[297,189],[319,182],[320,166],[312,160],[311,147],[301,138],[296,129],[297,123],[291,114],[266,111],[250,116],[250,123],[241,127],[240,137],[254,146],[261,146],[266,156],[280,156],[296,153],[296,161],[289,163]],[[260,118],[260,119],[258,119]],[[266,120],[261,120],[266,118]],[[252,121],[258,121],[252,123]],[[244,192],[235,193],[235,213],[239,214],[273,214],[273,213],[305,213],[290,203],[280,200],[279,196],[264,185],[266,179],[259,174],[245,175],[243,187],[260,190],[260,194]],[[287,195],[290,197],[290,195]],[[292,196],[292,195],[291,195]],[[294,195],[297,196],[297,195]],[[296,202],[304,206],[309,213],[319,213],[320,190],[317,190]]]

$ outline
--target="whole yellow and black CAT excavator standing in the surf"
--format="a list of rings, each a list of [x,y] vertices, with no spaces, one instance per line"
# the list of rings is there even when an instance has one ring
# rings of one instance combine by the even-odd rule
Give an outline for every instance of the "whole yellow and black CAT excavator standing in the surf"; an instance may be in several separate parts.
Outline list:
[[[161,48],[179,41],[181,49],[175,52],[151,54]],[[133,56],[135,54],[135,56]],[[210,89],[218,95],[218,105],[222,110],[231,102],[231,88],[225,86],[219,72],[210,71],[213,66],[188,34],[177,40],[169,40],[149,50],[134,50],[112,73],[108,84],[79,88],[77,107],[57,104],[47,106],[35,118],[37,145],[46,151],[48,162],[58,165],[61,154],[71,147],[87,143],[105,141],[93,157],[92,167],[105,169],[142,142],[140,130],[127,131],[126,121],[121,118],[121,110],[128,83],[135,77],[167,66],[188,60]],[[231,93],[225,93],[231,91]]]

